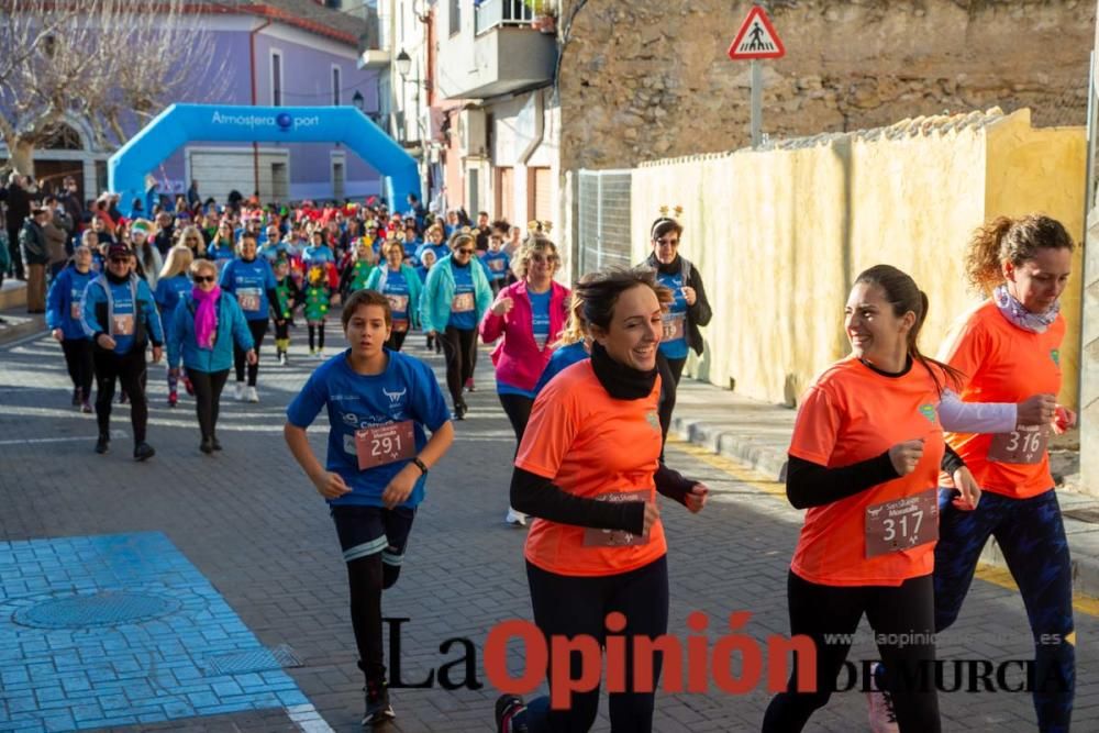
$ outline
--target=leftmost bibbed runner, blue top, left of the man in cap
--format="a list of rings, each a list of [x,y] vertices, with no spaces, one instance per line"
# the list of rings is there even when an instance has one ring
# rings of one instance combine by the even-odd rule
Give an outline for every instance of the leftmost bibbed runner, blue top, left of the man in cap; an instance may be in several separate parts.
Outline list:
[[[73,406],[87,413],[91,412],[93,369],[91,342],[80,324],[80,302],[96,277],[91,270],[91,249],[81,245],[73,253],[73,264],[54,278],[46,297],[46,327],[65,353],[65,366],[73,380]]]

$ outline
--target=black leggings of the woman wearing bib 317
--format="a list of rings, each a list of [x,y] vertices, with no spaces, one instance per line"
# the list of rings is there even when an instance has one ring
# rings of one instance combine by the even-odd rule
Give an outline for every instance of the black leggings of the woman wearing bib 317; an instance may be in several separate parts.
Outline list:
[[[791,570],[787,580],[790,635],[804,634],[817,645],[817,691],[798,692],[795,656],[786,692],[776,695],[763,721],[764,733],[800,731],[835,690],[836,677],[851,651],[851,640],[825,636],[855,634],[866,613],[878,638],[885,666],[882,687],[892,695],[901,733],[937,733],[939,697],[934,684],[934,588],[930,575],[892,586],[821,586]],[[909,681],[906,681],[909,680]]]

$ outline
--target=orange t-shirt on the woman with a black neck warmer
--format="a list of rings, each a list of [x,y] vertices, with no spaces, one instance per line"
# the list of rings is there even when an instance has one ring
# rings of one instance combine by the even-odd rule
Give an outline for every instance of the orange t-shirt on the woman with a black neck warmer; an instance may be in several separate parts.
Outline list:
[[[647,501],[656,501],[653,475],[660,456],[659,397],[657,378],[648,397],[617,400],[603,389],[589,359],[575,364],[539,393],[515,465],[578,497],[606,499],[644,491]],[[644,544],[592,545],[592,534],[609,536],[536,519],[526,535],[526,559],[558,575],[603,576],[629,573],[667,553],[659,521]]]

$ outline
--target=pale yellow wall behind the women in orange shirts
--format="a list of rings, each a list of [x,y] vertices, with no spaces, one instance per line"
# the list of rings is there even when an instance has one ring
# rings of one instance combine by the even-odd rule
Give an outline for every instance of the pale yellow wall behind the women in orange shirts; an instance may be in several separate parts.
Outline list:
[[[1029,112],[904,121],[782,143],[777,149],[662,160],[633,171],[635,260],[662,206],[684,207],[680,252],[702,274],[714,316],[688,373],[793,404],[847,353],[843,306],[879,263],[906,270],[931,301],[921,348],[979,299],[962,270],[988,216],[1045,211],[1079,241],[1083,127],[1034,130]],[[1066,293],[1065,386],[1076,404],[1079,286]]]

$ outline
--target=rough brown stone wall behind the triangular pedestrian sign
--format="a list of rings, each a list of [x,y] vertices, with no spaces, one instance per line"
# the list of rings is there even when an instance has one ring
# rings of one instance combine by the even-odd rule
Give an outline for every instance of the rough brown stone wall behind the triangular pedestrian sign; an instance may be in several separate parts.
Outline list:
[[[562,169],[630,167],[748,142],[750,64],[725,56],[751,2],[564,0]],[[1077,0],[774,0],[771,137],[1024,107],[1083,125],[1096,5]]]

